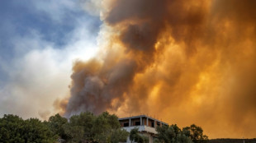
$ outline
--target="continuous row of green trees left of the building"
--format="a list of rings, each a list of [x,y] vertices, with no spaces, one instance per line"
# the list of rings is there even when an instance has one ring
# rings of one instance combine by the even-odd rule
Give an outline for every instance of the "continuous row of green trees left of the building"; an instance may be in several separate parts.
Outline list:
[[[23,120],[18,116],[4,115],[0,118],[0,142],[56,142],[60,137],[66,142],[106,142],[117,143],[126,141],[129,132],[121,129],[115,114],[80,113],[69,118],[62,118],[59,114],[49,118],[48,122],[41,122],[37,118]],[[139,141],[139,139],[138,139]],[[144,136],[140,142],[146,141]]]

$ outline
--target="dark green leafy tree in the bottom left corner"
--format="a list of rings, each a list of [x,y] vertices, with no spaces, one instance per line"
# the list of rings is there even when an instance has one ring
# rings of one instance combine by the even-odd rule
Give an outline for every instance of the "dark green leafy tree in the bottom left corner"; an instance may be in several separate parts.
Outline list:
[[[37,118],[23,120],[16,115],[0,118],[0,142],[55,142],[57,136]]]

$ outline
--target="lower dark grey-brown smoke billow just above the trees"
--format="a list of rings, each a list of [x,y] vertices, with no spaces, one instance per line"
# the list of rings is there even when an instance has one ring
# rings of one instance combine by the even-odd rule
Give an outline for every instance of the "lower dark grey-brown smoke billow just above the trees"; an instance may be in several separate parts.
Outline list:
[[[97,60],[77,62],[73,67],[71,97],[66,116],[84,111],[102,113],[111,108],[111,100],[120,98],[131,85],[136,63],[132,60],[117,62],[104,71]]]

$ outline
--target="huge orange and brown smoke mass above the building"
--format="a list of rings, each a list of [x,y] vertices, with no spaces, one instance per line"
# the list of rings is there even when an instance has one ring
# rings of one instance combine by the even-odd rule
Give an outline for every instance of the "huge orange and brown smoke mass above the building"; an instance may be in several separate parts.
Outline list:
[[[105,110],[256,136],[256,1],[103,0],[96,58],[73,66],[65,116]]]

